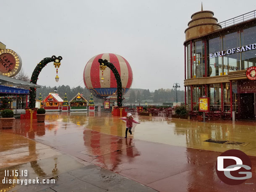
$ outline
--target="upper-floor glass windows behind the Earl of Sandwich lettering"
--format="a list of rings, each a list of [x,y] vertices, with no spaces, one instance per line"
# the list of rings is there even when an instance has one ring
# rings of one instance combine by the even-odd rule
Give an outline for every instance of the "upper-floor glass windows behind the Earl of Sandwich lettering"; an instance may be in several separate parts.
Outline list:
[[[256,26],[209,39],[206,43],[208,77],[227,75],[228,72],[245,70],[248,67],[256,66],[256,49],[253,49],[254,47],[252,46],[252,44],[256,44]],[[246,47],[248,45],[251,46]],[[186,47],[187,78],[205,77],[204,41],[192,42],[192,52],[190,51],[190,43]],[[227,52],[229,49],[232,50],[238,47],[240,48],[240,52],[236,49],[235,53],[226,54],[222,57],[210,58],[209,56],[209,54],[222,51]]]

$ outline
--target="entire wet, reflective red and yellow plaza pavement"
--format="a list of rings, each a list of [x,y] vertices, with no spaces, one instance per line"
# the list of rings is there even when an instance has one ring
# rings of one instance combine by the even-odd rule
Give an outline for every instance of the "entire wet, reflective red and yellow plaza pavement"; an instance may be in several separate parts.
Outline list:
[[[57,183],[21,186],[0,182],[0,189],[255,190],[255,122],[203,123],[136,115],[135,119],[141,124],[127,139],[124,138],[125,123],[106,112],[51,112],[47,114],[45,123],[17,119],[12,130],[0,130],[1,181],[8,169],[28,170],[29,178],[54,178]],[[205,142],[208,139],[240,143]],[[239,149],[250,156],[253,177],[243,184],[227,185],[217,177],[217,156],[228,149]]]

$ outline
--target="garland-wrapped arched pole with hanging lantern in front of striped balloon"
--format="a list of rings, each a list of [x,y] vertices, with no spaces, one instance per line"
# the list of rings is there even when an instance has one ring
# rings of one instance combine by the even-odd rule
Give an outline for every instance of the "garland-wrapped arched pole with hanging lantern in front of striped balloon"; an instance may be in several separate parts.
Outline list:
[[[102,70],[102,73],[106,67],[109,67],[110,70],[112,70],[112,72],[114,73],[116,83],[118,85],[118,87],[117,87],[118,106],[122,106],[122,81],[121,81],[120,75],[118,73],[118,70],[115,68],[115,66],[111,62],[108,62],[107,60],[102,60],[102,59],[99,59],[99,67],[100,67],[100,70]],[[102,78],[102,79],[104,80],[104,78]]]

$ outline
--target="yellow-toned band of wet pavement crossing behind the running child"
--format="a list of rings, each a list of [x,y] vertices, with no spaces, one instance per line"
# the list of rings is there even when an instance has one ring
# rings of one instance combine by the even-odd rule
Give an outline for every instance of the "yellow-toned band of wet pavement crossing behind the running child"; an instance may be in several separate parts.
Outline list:
[[[128,135],[128,138],[219,152],[228,149],[238,149],[248,155],[256,156],[255,122],[235,122],[235,124],[232,124],[231,121],[215,121],[203,123],[165,117],[136,115],[134,117],[141,124],[136,126],[133,135]],[[125,136],[125,123],[119,117],[112,117],[111,113],[52,113],[46,119],[50,122],[55,122],[57,119],[57,122],[60,123],[57,127],[62,129],[66,129],[68,123],[73,123],[109,135]],[[53,123],[52,126],[54,125]],[[47,126],[50,129],[51,124]],[[248,145],[223,145],[204,142],[208,139],[243,142],[248,143]]]

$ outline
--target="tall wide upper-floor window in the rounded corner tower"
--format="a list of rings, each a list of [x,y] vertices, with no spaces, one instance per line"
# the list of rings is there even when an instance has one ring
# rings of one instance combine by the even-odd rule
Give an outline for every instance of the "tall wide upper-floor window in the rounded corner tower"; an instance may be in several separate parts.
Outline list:
[[[192,77],[204,77],[204,42],[197,41],[192,44]]]

